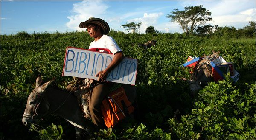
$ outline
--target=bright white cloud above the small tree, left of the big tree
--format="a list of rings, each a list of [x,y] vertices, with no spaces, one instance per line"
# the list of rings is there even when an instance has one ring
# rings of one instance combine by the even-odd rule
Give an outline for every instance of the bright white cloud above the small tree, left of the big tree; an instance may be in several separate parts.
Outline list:
[[[148,26],[155,26],[157,25],[157,19],[163,15],[162,12],[160,13],[144,13],[143,17],[140,18],[134,18],[131,20],[128,20],[127,22],[142,22],[142,25],[140,25],[140,32],[144,33],[146,31],[146,28]]]

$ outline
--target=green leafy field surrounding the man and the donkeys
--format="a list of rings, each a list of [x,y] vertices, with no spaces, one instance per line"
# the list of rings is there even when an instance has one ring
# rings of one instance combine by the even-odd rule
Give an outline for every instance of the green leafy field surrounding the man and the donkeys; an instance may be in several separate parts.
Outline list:
[[[141,118],[122,122],[113,129],[86,134],[89,139],[255,139],[255,36],[186,36],[184,34],[123,34],[111,31],[125,56],[138,59],[137,101]],[[157,40],[146,51],[133,44]],[[88,49],[93,41],[87,32],[19,32],[1,35],[1,139],[74,139],[73,126],[49,115],[36,132],[22,124],[26,100],[40,73],[44,81],[56,78],[65,88],[72,77],[62,76],[68,46]],[[188,56],[220,51],[240,73],[239,81],[228,76],[209,83],[195,95],[178,76],[189,78],[180,67]],[[176,109],[181,118],[173,119]],[[52,124],[53,123],[53,124]],[[55,129],[53,126],[57,126]],[[58,126],[63,129],[60,133]],[[30,131],[32,130],[32,131]],[[58,133],[57,133],[58,132]]]

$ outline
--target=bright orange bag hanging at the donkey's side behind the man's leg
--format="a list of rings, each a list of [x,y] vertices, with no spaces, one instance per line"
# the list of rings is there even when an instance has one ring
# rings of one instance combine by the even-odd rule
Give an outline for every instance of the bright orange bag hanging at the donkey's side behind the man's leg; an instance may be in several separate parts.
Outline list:
[[[126,115],[134,111],[134,107],[128,100],[125,90],[119,87],[113,92],[108,93],[108,98],[102,101],[102,116],[108,128],[113,128]]]

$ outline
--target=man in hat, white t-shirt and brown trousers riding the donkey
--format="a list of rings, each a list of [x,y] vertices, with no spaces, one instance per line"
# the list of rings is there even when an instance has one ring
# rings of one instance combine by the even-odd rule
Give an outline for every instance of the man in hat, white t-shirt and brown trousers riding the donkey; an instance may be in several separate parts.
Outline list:
[[[105,128],[105,123],[102,118],[102,113],[100,110],[100,105],[103,99],[108,94],[109,90],[113,86],[113,83],[106,82],[108,73],[113,70],[124,58],[122,50],[116,44],[116,41],[111,37],[107,36],[109,32],[108,23],[100,18],[91,17],[85,22],[81,22],[80,28],[87,28],[88,34],[94,38],[94,41],[90,43],[89,49],[91,48],[105,48],[114,54],[112,62],[108,65],[105,70],[100,71],[96,74],[98,81],[93,81],[94,87],[92,92],[90,92],[89,100],[89,110],[90,115],[93,119],[93,123],[99,126],[100,129]],[[102,51],[104,52],[104,51]]]

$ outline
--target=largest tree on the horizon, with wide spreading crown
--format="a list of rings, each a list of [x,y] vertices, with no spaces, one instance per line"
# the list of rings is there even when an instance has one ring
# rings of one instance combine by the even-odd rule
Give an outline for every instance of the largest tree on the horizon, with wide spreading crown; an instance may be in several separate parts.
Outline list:
[[[206,8],[200,6],[189,6],[185,7],[184,11],[179,11],[179,9],[173,9],[171,13],[173,15],[167,14],[167,18],[171,18],[171,22],[179,23],[181,28],[186,34],[193,33],[195,28],[204,25],[207,21],[211,21],[212,18],[208,17],[212,13]]]

